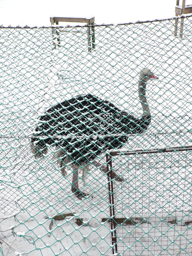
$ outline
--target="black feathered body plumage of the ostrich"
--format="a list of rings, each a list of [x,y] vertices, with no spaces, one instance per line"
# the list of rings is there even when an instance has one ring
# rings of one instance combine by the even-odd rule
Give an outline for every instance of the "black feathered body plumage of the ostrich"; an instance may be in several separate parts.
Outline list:
[[[120,148],[129,134],[142,133],[151,116],[135,118],[91,94],[61,102],[39,118],[32,142],[38,149],[60,146],[81,165],[103,151]]]

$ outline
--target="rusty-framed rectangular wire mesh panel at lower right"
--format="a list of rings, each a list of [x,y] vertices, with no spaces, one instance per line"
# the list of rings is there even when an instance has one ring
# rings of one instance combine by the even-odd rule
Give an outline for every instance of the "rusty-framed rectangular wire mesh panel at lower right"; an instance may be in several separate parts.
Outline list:
[[[192,146],[107,155],[111,180],[112,252],[120,255],[191,255]],[[110,174],[109,174],[110,177]]]

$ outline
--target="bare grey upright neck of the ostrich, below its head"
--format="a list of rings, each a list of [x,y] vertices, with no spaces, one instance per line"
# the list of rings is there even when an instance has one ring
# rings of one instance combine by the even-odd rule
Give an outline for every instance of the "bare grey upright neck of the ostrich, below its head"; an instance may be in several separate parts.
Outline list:
[[[149,110],[149,106],[148,106],[147,98],[146,98],[146,83],[144,83],[142,80],[139,81],[138,93],[139,93],[140,103],[143,108],[142,117],[150,116],[150,110]]]

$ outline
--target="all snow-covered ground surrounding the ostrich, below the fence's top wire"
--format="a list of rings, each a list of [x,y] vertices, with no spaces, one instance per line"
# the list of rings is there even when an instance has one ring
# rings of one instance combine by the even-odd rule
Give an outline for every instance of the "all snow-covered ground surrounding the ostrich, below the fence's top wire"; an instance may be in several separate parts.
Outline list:
[[[186,35],[189,29],[190,19]],[[61,175],[54,149],[42,159],[30,151],[37,118],[49,106],[93,93],[140,116],[138,73],[148,67],[159,76],[159,81],[147,84],[151,126],[142,136],[129,136],[125,149],[191,144],[190,34],[174,37],[174,20],[100,26],[95,27],[96,48],[88,53],[86,27],[62,30],[57,28],[61,41],[53,50],[50,28],[1,29],[4,255],[111,254],[110,226],[102,222],[109,216],[106,175],[92,166],[80,187],[93,198],[80,201],[71,192],[71,170],[66,177]],[[123,255],[158,255],[162,249],[170,255],[191,255],[191,157],[190,152],[114,157],[114,169],[126,179],[114,185],[116,216],[147,219],[117,230],[120,248],[124,241]],[[52,218],[61,213],[74,216],[53,221],[50,227]],[[83,225],[78,225],[79,218]]]

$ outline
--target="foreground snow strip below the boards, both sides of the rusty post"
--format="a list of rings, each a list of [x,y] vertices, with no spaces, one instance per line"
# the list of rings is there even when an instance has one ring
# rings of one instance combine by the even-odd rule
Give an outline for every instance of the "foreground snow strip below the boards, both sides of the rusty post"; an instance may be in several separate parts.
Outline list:
[[[83,225],[79,226],[76,221],[79,216],[67,217],[54,221],[51,230],[50,219],[46,218],[45,213],[30,212],[30,216],[19,214],[16,220],[14,217],[1,219],[4,255],[111,255],[109,223],[101,222],[102,218],[84,217]],[[150,214],[146,219],[140,224],[139,217],[132,217],[136,225],[124,224],[117,229],[119,253],[129,256],[163,255],[163,249],[166,249],[168,255],[191,255],[192,216],[189,217],[188,213],[185,217],[164,213]],[[8,229],[19,222],[19,227],[14,229],[17,236],[13,236],[12,230]]]

